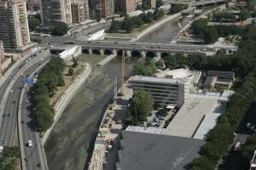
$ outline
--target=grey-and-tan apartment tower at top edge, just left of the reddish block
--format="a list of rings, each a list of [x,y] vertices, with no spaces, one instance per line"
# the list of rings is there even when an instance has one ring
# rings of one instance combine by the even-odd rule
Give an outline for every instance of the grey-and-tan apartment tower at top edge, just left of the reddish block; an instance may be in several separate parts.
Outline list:
[[[95,0],[96,17],[108,18],[114,14],[113,0]]]

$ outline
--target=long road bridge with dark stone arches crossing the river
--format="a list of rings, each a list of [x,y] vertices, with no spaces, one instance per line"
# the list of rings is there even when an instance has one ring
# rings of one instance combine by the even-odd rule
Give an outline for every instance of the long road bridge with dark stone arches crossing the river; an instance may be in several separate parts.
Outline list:
[[[87,41],[76,42],[80,45],[85,54],[122,54],[125,50],[126,56],[138,57],[164,57],[170,54],[215,54],[218,49],[236,51],[237,46],[231,45],[190,45],[171,43],[148,43],[148,42],[108,42],[108,41]],[[52,52],[61,52],[67,47],[63,44],[55,44],[50,48]]]

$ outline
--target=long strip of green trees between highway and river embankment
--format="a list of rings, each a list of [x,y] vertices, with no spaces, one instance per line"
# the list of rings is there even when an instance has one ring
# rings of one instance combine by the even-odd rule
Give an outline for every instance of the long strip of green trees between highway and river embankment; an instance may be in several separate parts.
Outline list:
[[[63,59],[53,57],[39,74],[38,82],[35,86],[35,101],[40,131],[46,131],[54,121],[55,111],[49,105],[49,98],[55,94],[55,89],[58,86],[65,85],[62,75],[64,67]]]

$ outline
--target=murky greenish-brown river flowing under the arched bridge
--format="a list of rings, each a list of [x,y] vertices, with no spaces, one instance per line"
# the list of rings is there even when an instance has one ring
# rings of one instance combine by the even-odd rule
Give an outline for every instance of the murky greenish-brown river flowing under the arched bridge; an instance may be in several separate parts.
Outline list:
[[[181,20],[184,25],[186,20]],[[139,42],[171,42],[180,28],[177,20],[161,26]],[[89,62],[93,71],[79,93],[67,105],[45,144],[49,170],[82,170],[96,138],[98,123],[113,95],[113,82],[121,74],[120,58],[104,67],[96,66],[105,56],[82,54],[79,59]],[[145,59],[125,59],[125,75],[129,77],[133,65]]]

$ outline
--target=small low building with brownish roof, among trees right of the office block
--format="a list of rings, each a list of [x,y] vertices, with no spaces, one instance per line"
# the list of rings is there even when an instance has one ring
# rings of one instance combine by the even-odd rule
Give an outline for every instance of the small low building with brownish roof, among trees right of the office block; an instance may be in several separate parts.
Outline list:
[[[234,82],[235,72],[233,71],[208,71],[208,77],[218,77],[218,82]]]

